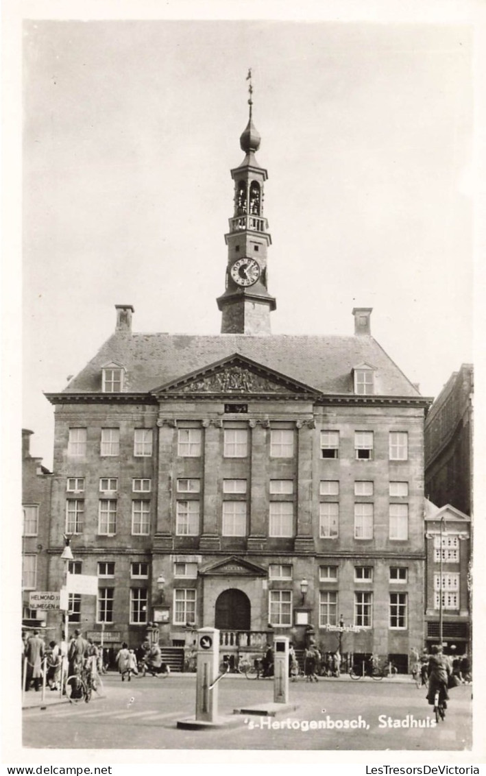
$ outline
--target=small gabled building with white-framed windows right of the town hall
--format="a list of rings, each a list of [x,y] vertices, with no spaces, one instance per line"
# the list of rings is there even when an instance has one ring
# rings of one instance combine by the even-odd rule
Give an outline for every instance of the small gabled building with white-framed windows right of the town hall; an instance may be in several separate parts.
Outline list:
[[[425,646],[470,655],[470,517],[425,499],[425,538]]]

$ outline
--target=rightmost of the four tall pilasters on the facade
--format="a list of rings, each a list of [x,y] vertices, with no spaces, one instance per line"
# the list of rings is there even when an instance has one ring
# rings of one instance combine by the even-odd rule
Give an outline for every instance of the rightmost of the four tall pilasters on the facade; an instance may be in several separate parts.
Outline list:
[[[297,421],[297,535],[296,553],[314,553],[312,530],[312,451],[314,421]]]

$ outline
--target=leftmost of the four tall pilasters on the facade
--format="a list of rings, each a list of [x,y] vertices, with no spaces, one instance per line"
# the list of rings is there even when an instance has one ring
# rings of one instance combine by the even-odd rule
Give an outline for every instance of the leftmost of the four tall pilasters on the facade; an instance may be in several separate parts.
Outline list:
[[[158,483],[157,526],[155,529],[158,549],[172,549],[172,459],[175,444],[175,421],[159,418],[158,425]]]

